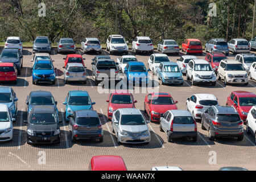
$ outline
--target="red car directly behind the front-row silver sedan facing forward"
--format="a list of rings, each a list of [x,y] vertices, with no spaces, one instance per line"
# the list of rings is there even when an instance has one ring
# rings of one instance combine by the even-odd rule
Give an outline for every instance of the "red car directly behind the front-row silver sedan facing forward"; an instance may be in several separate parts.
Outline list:
[[[112,115],[115,110],[121,108],[135,108],[133,94],[128,90],[115,90],[109,94],[109,99],[106,100],[109,102],[108,106],[108,119],[112,119]]]

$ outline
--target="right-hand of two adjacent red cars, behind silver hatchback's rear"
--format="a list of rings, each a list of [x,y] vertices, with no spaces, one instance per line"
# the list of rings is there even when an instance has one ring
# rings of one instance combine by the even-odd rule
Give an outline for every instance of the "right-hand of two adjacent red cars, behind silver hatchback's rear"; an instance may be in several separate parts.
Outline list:
[[[170,93],[150,93],[144,100],[144,111],[150,118],[150,122],[159,122],[160,117],[167,110],[177,109],[177,101],[174,102]]]

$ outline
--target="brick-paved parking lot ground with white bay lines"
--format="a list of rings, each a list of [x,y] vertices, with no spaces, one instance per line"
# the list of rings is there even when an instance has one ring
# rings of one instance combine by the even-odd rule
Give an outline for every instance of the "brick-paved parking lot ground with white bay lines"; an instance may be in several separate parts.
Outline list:
[[[77,53],[81,53],[79,50]],[[109,52],[102,51],[103,55],[109,55]],[[133,55],[133,52],[129,52]],[[149,144],[117,144],[115,134],[111,132],[111,122],[108,121],[106,102],[108,93],[100,94],[97,86],[93,81],[92,75],[92,59],[96,55],[94,53],[82,54],[87,67],[88,80],[87,84],[64,84],[63,66],[65,55],[57,54],[56,49],[52,50],[51,57],[53,65],[57,68],[56,84],[38,84],[32,85],[31,66],[32,48],[23,49],[23,69],[18,76],[18,84],[1,84],[2,86],[12,86],[19,99],[18,101],[18,117],[14,123],[14,140],[13,142],[0,143],[1,170],[87,170],[88,164],[94,155],[120,155],[124,159],[128,170],[150,170],[154,166],[178,166],[184,170],[217,170],[224,166],[239,166],[250,170],[255,170],[255,151],[254,138],[245,134],[241,142],[236,138],[221,138],[210,141],[208,132],[201,129],[201,124],[197,123],[197,142],[192,142],[186,138],[176,139],[174,142],[167,142],[165,133],[159,131],[158,123],[150,123],[148,127],[151,131],[151,142]],[[111,55],[112,59],[117,61],[117,57],[121,55]],[[150,55],[137,55],[139,61],[147,66],[148,57]],[[170,59],[176,62],[181,56],[169,55]],[[204,59],[204,56],[198,56]],[[229,59],[234,55],[230,54]],[[35,145],[30,146],[26,143],[26,97],[34,90],[48,90],[53,94],[58,102],[61,123],[61,143],[53,145]],[[65,107],[62,104],[69,90],[86,90],[90,94],[93,102],[94,110],[99,114],[103,114],[101,122],[104,129],[104,142],[97,141],[80,141],[71,142],[71,135],[68,131],[68,123],[64,121]],[[192,86],[191,81],[187,81],[184,76],[183,85],[159,85],[160,92],[169,92],[175,101],[178,101],[178,109],[185,109],[185,101],[192,94],[210,93],[218,98],[221,105],[226,105],[226,98],[234,90],[256,91],[256,82],[251,81],[249,85],[228,85],[225,86],[222,81],[217,81],[216,86],[196,85]],[[134,93],[134,99],[138,101],[136,107],[143,110],[144,97],[147,93]],[[148,116],[145,114],[148,119]],[[38,163],[40,154],[43,151],[46,154],[46,164]],[[213,152],[211,152],[213,151]],[[210,154],[216,154],[216,164],[209,164]]]

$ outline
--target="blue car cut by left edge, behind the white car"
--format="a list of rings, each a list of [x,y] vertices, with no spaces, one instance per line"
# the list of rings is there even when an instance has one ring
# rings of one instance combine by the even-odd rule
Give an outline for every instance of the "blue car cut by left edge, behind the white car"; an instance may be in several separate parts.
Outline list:
[[[15,118],[18,114],[16,93],[10,86],[0,87],[0,104],[6,104],[11,112],[11,117]]]

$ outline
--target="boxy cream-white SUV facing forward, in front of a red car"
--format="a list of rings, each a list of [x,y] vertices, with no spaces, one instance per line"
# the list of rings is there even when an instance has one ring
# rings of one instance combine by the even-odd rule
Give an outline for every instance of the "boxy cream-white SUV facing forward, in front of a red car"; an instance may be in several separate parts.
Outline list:
[[[217,71],[218,80],[224,80],[224,84],[249,83],[249,76],[243,64],[236,60],[221,60]]]

